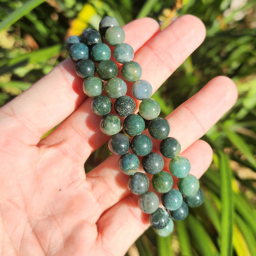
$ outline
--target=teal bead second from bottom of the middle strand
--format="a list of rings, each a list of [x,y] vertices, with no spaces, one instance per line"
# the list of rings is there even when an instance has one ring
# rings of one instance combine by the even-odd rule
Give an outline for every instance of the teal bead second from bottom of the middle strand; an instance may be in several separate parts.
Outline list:
[[[162,205],[168,210],[178,209],[183,202],[182,194],[179,190],[172,188],[161,196]]]

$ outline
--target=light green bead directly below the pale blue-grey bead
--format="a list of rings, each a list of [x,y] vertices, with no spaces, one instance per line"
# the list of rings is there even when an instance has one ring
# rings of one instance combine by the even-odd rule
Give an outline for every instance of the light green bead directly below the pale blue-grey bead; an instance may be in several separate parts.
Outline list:
[[[139,113],[146,120],[157,118],[160,114],[161,107],[153,98],[145,98],[139,105]]]

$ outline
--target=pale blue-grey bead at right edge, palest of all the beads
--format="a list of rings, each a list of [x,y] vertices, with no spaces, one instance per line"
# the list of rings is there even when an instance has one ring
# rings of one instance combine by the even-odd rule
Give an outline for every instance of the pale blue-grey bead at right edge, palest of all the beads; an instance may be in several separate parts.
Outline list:
[[[152,95],[152,86],[146,80],[137,80],[132,87],[134,98],[143,100]]]

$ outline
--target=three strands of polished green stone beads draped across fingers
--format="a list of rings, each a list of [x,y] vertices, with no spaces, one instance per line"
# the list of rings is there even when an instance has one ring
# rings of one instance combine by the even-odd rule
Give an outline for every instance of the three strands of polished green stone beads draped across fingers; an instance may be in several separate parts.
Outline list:
[[[76,73],[84,78],[83,88],[88,97],[94,97],[91,102],[92,111],[102,116],[100,130],[112,135],[109,140],[109,149],[119,155],[119,168],[127,175],[129,190],[139,195],[138,206],[149,214],[149,222],[155,232],[160,236],[167,236],[173,230],[172,220],[186,218],[188,207],[197,207],[203,202],[203,192],[199,188],[199,181],[191,174],[190,162],[180,156],[181,145],[172,137],[170,125],[166,119],[158,117],[160,105],[151,97],[152,86],[145,80],[139,80],[142,74],[139,63],[133,61],[133,48],[123,43],[125,38],[123,29],[114,17],[104,17],[99,23],[99,32],[86,28],[81,37],[72,36],[66,40],[66,49],[76,64]],[[106,41],[107,44],[102,43]],[[118,67],[110,61],[111,50],[114,46],[113,56],[122,63],[122,78],[132,85],[133,97],[141,100],[139,114],[134,114],[136,104],[133,98],[126,95],[126,82],[116,77]],[[97,76],[95,76],[95,72]],[[107,81],[105,86],[103,81]],[[106,95],[102,95],[105,87]],[[112,101],[117,115],[110,114]],[[120,117],[125,117],[123,123]],[[150,136],[142,134],[145,130],[145,120],[149,121],[148,132],[151,137],[161,140],[159,151],[165,158],[170,158],[169,170],[163,171],[164,160],[157,152],[151,152],[153,144]],[[120,133],[122,129],[122,133]],[[133,137],[131,142],[129,137]],[[129,152],[131,148],[131,151]],[[149,179],[143,172],[139,172],[140,161],[147,174],[153,175],[151,179],[154,190],[161,193],[159,207],[158,195],[148,191]],[[173,179],[178,179],[178,190],[172,188]]]

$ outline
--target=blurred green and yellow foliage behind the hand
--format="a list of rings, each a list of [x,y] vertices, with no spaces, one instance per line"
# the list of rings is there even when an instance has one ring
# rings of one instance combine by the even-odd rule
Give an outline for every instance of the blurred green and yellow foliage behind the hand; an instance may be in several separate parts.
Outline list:
[[[66,37],[97,27],[105,15],[121,25],[150,16],[162,28],[183,14],[199,17],[207,27],[204,43],[153,97],[164,116],[211,78],[227,75],[239,98],[203,138],[214,149],[213,164],[201,179],[203,205],[176,222],[167,238],[149,229],[127,255],[256,255],[256,0],[0,0],[0,5],[0,105],[67,57]],[[85,163],[86,170],[108,155],[105,144]]]

